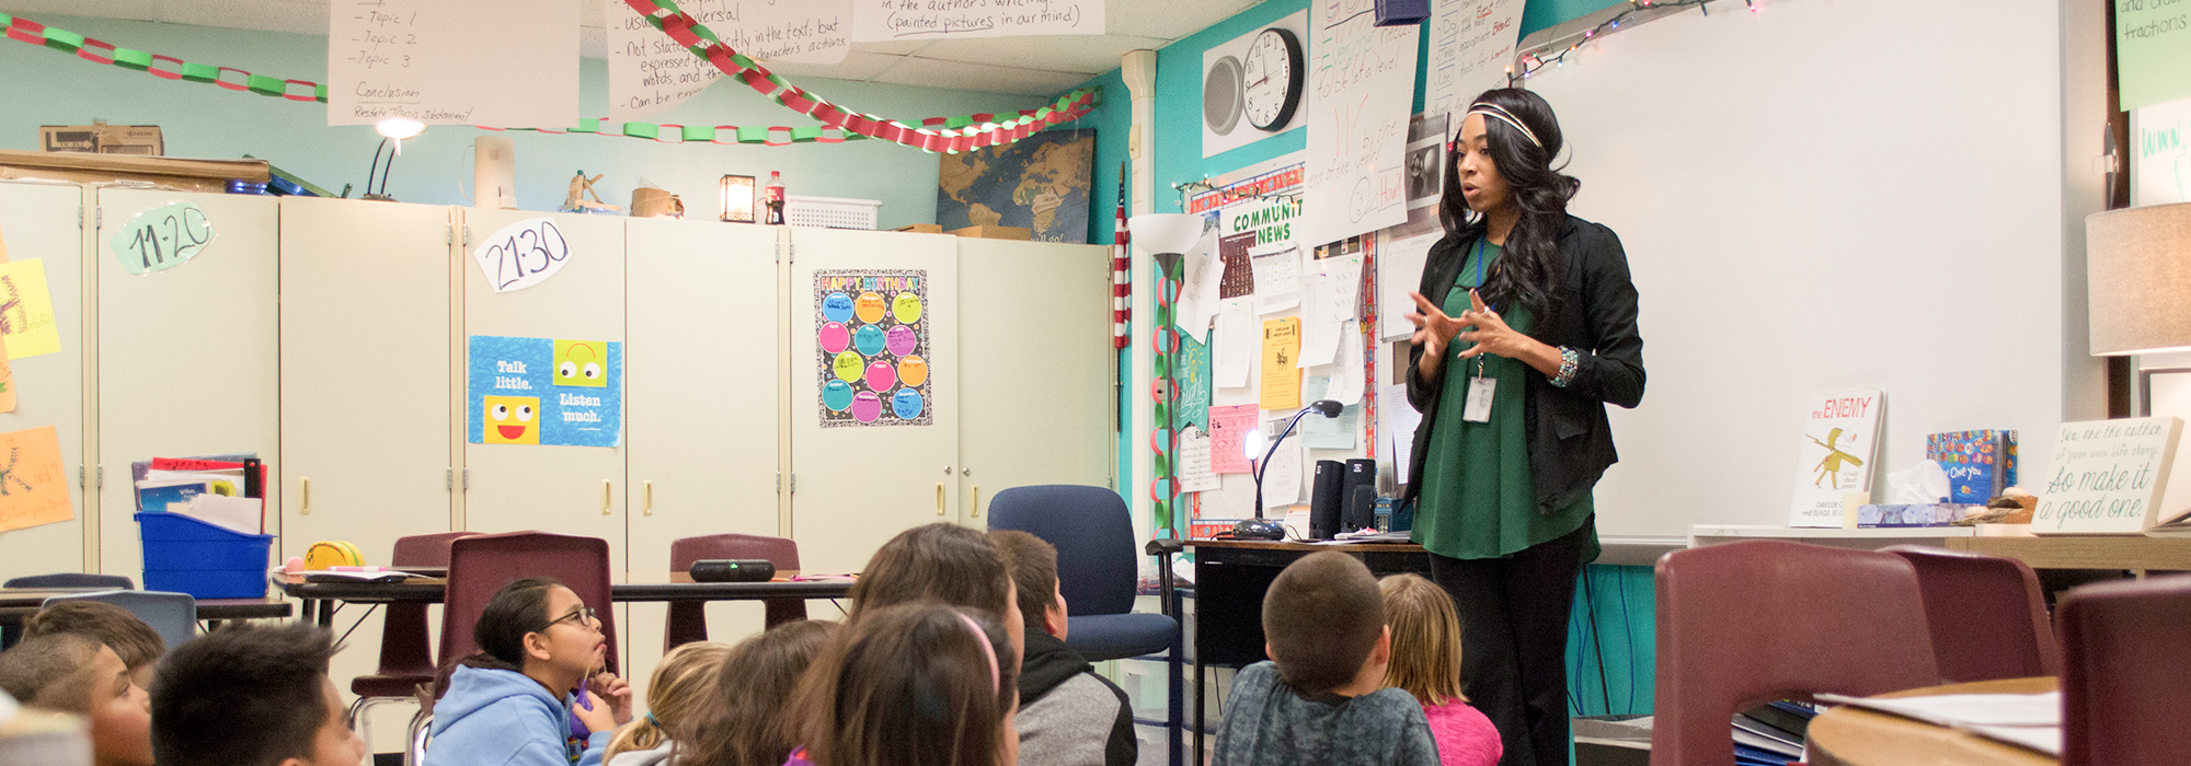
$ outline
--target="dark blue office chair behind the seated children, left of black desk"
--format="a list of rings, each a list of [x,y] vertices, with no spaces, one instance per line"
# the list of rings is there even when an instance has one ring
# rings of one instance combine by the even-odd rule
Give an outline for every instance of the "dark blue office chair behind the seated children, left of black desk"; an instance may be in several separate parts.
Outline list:
[[[1179,619],[1133,611],[1139,545],[1126,501],[1102,486],[1014,486],[988,503],[990,530],[1021,530],[1058,547],[1065,646],[1087,661],[1172,648]]]

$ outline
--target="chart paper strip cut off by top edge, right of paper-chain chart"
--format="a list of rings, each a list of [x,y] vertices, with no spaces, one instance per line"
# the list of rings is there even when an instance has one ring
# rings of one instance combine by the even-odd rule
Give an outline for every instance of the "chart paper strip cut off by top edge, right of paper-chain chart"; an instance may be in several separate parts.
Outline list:
[[[1102,35],[1102,0],[854,0],[852,42]]]

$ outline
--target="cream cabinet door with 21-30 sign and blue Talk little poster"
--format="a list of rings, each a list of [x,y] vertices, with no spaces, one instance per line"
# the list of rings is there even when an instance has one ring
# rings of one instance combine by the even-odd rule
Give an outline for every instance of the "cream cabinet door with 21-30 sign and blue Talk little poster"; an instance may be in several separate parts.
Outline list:
[[[497,293],[471,260],[471,249],[497,230],[537,212],[460,210],[464,247],[464,335],[624,341],[624,219],[552,214],[567,241],[567,260],[548,280]],[[464,370],[451,385],[464,390]],[[543,394],[552,396],[552,394]],[[467,409],[460,414],[469,418]],[[469,422],[467,422],[469,429]],[[611,541],[609,571],[624,571],[624,444],[464,444],[469,490],[464,527],[473,532],[541,530]],[[603,604],[594,604],[596,608]]]

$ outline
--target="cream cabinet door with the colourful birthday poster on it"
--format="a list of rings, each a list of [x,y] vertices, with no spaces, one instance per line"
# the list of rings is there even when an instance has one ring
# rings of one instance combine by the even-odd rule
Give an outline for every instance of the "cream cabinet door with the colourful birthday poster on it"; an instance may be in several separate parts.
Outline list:
[[[955,236],[903,232],[791,230],[791,355],[784,361],[791,387],[791,536],[800,543],[800,565],[817,573],[857,571],[883,541],[907,527],[931,521],[960,521],[957,446],[960,446],[960,322],[957,322],[957,245]],[[854,271],[914,274],[922,298],[920,348],[925,390],[920,407],[927,425],[890,425],[859,420],[826,425],[822,411],[826,381],[835,376],[835,355],[824,350],[822,330],[828,320],[819,302],[839,289],[819,289],[822,276],[854,276]],[[859,300],[859,291],[846,291]],[[883,311],[896,320],[896,295],[911,293],[883,285],[874,289]],[[854,309],[859,311],[859,309]],[[850,328],[852,346],[844,352],[861,370],[848,370],[865,381],[874,363],[903,370],[903,357],[887,350],[870,355]],[[890,324],[890,322],[881,322]],[[881,330],[879,330],[881,333]],[[835,344],[835,341],[833,341]],[[874,346],[868,346],[874,348]],[[892,372],[903,383],[903,372]],[[859,387],[859,385],[854,385]],[[887,390],[887,387],[885,387]],[[894,407],[892,401],[876,403]]]

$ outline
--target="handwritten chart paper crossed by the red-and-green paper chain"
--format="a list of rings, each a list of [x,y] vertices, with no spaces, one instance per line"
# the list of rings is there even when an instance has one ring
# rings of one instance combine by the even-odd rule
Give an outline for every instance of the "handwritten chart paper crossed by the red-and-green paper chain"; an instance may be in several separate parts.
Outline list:
[[[697,96],[721,70],[646,24],[624,0],[609,26],[609,123],[644,120]],[[852,0],[686,0],[679,4],[732,50],[760,61],[839,63],[852,50]]]

